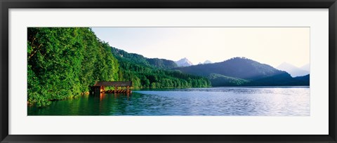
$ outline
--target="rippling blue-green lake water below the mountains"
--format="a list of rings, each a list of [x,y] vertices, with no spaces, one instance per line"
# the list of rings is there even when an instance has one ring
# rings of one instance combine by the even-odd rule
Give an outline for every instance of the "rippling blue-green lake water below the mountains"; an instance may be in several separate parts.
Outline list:
[[[310,116],[309,87],[133,90],[28,107],[31,116]]]

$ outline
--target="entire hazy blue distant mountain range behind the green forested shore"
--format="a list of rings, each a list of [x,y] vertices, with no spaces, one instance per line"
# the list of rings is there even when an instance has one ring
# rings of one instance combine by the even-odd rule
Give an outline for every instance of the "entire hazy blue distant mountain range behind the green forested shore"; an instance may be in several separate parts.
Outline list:
[[[203,76],[211,82],[211,86],[309,86],[310,84],[309,74],[292,77],[286,70],[275,69],[268,64],[261,64],[245,57],[233,57],[230,60],[216,63],[205,61],[205,64],[193,65],[186,57],[174,62],[147,58],[118,48],[112,48],[112,54],[118,60],[123,61],[124,67],[129,62],[151,67],[151,70],[159,68],[168,72],[178,71],[182,73],[180,76],[183,74]]]

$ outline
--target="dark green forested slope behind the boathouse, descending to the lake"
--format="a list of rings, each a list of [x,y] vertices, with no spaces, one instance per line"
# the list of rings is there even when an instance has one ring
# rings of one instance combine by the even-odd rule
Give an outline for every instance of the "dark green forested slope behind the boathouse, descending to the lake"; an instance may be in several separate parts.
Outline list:
[[[132,81],[134,88],[201,88],[210,87],[208,79],[168,70],[176,67],[170,60],[149,59],[142,55],[112,48],[120,64],[121,81]],[[172,64],[172,62],[174,64]]]

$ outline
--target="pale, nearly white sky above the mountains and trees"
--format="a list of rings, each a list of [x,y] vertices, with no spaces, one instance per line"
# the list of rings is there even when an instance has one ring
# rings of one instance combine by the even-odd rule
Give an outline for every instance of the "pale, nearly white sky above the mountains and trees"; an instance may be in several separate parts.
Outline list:
[[[310,63],[310,27],[92,27],[110,46],[193,64],[246,57],[277,67]]]

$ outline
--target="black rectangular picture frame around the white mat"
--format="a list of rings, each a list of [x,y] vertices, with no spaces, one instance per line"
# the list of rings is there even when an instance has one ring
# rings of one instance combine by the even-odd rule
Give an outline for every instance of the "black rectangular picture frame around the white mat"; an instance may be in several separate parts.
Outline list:
[[[336,142],[336,0],[0,0],[1,142]],[[8,135],[9,8],[329,8],[329,135]],[[244,129],[243,129],[244,130]]]

